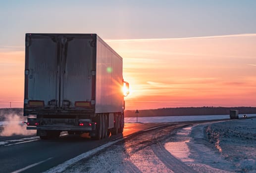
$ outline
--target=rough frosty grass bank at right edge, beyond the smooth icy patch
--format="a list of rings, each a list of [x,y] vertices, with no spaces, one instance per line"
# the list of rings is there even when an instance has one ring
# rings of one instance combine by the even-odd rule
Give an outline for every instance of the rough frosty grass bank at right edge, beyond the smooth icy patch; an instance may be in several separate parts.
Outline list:
[[[256,173],[256,119],[212,124],[206,135],[220,156],[234,164],[235,171]]]

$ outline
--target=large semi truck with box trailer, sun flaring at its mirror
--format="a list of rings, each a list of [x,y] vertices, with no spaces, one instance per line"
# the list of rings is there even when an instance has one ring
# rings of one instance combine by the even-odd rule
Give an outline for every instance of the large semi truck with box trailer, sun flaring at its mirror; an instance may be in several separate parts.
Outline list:
[[[97,34],[25,34],[24,116],[41,139],[122,133],[123,62]]]

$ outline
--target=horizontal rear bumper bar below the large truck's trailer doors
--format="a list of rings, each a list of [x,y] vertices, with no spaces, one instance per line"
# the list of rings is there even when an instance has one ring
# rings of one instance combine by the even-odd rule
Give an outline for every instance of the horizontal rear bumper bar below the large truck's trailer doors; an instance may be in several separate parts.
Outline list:
[[[74,127],[74,126],[37,126],[37,127],[27,127],[27,130],[61,130],[61,131],[92,131],[95,127]]]

